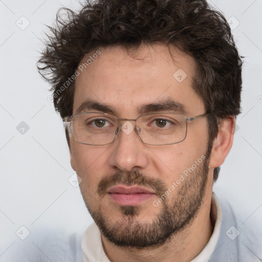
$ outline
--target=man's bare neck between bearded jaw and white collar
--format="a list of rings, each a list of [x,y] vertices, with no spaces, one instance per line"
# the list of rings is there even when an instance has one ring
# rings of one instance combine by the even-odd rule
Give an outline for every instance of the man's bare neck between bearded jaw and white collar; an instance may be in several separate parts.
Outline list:
[[[210,220],[211,198],[212,187],[206,192],[197,217],[186,228],[174,234],[160,247],[146,249],[118,247],[101,235],[106,256],[112,262],[191,261],[204,249],[213,232],[214,225]]]

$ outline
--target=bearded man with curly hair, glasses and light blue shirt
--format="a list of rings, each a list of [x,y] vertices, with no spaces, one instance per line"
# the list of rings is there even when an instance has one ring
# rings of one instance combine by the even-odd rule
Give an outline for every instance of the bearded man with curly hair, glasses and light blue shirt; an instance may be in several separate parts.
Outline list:
[[[83,261],[261,259],[212,193],[242,89],[223,15],[204,0],[100,0],[67,11],[38,70],[95,221]]]

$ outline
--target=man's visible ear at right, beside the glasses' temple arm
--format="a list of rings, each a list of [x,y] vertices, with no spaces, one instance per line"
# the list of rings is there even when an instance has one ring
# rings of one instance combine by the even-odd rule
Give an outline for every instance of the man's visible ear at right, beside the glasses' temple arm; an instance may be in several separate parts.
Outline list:
[[[235,132],[235,116],[222,119],[217,137],[213,141],[209,168],[221,166],[233,144]]]

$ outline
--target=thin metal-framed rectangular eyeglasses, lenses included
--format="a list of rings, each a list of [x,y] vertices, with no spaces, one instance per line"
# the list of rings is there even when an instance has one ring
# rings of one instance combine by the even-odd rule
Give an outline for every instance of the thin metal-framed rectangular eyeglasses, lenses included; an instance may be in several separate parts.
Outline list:
[[[187,122],[203,118],[208,114],[185,117],[182,114],[154,113],[141,115],[137,119],[123,119],[99,113],[79,113],[63,118],[73,138],[85,145],[107,145],[114,142],[120,130],[129,135],[133,130],[140,140],[149,145],[171,145],[182,142],[187,134]],[[122,125],[120,122],[125,121]],[[135,122],[135,126],[131,123]]]

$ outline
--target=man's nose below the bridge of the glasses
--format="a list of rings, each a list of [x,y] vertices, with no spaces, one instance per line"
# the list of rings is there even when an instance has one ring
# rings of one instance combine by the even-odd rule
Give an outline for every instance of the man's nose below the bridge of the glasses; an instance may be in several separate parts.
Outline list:
[[[138,137],[134,125],[127,121],[119,130],[117,139],[112,144],[110,165],[121,171],[143,169],[148,164],[146,145]]]

